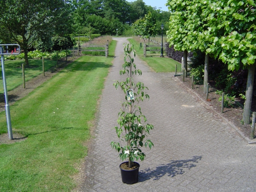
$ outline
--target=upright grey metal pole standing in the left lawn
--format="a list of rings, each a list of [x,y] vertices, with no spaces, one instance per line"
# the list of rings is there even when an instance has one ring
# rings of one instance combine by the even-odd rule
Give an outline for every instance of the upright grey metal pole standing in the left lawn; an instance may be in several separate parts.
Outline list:
[[[1,49],[1,52],[3,52],[3,47],[0,47],[0,49]],[[9,139],[13,140],[13,137],[12,137],[11,113],[10,113],[10,106],[9,106],[9,102],[8,102],[6,75],[5,75],[4,57],[3,57],[3,55],[1,55],[1,61],[2,61],[2,71],[3,71],[3,88],[4,88],[5,99],[6,99],[6,120],[7,120],[8,134],[9,134]]]

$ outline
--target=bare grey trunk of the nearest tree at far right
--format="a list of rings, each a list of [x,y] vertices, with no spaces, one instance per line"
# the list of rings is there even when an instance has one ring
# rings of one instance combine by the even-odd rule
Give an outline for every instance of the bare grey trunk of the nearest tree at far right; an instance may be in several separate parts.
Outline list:
[[[248,66],[248,76],[247,76],[247,84],[246,84],[246,92],[245,92],[246,99],[244,102],[244,113],[243,113],[244,125],[250,124],[250,109],[251,109],[252,97],[253,97],[254,72],[255,72],[255,63],[253,65]]]

